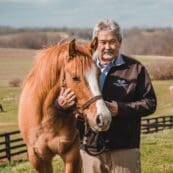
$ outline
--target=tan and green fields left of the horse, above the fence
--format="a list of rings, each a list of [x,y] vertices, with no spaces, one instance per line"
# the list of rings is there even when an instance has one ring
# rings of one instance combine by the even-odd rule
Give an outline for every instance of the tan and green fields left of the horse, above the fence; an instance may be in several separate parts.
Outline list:
[[[4,108],[4,112],[0,113],[0,133],[18,129],[17,106],[21,89],[9,87],[9,82],[25,78],[36,52],[30,49],[0,48],[0,104]]]

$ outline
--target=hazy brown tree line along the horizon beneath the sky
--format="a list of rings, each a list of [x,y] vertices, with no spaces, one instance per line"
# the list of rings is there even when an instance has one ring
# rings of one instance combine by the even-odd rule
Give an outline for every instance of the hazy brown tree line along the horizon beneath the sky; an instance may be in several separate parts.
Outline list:
[[[122,51],[127,54],[173,56],[172,28],[123,29]],[[62,39],[87,42],[91,28],[12,28],[0,26],[0,47],[41,49]]]

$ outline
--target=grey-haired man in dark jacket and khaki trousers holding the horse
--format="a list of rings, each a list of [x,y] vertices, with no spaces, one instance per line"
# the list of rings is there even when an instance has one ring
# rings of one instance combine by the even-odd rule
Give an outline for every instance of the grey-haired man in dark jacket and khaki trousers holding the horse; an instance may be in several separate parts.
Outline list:
[[[156,109],[153,86],[145,67],[120,53],[122,35],[115,21],[98,22],[93,37],[98,37],[94,59],[101,70],[100,89],[112,113],[112,122],[105,132],[89,130],[86,134],[79,120],[83,172],[140,173],[141,117]],[[63,89],[58,103],[62,109],[74,105],[73,91]],[[84,135],[87,144],[82,142]]]

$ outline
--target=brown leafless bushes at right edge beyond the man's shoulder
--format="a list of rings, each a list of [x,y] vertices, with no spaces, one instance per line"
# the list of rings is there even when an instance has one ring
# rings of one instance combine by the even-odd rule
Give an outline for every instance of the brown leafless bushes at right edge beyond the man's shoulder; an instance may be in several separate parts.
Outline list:
[[[147,65],[147,69],[153,80],[173,79],[173,59],[172,60],[155,60]]]

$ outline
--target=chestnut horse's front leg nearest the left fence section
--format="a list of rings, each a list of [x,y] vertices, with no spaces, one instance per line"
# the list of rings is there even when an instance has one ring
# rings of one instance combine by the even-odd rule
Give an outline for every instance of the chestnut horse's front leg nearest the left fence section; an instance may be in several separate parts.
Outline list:
[[[41,158],[32,147],[28,147],[29,161],[38,173],[53,173],[52,157],[49,159]]]

